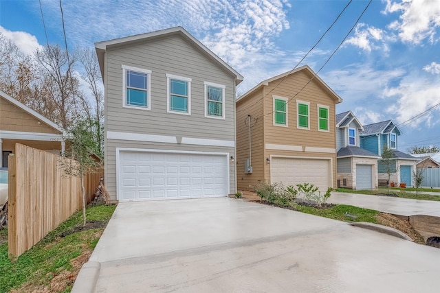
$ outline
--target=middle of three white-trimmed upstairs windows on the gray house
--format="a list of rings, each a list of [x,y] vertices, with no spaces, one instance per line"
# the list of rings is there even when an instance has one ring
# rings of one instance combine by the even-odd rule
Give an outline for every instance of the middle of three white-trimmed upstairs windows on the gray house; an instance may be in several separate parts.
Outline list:
[[[191,115],[191,79],[166,74],[166,111]]]

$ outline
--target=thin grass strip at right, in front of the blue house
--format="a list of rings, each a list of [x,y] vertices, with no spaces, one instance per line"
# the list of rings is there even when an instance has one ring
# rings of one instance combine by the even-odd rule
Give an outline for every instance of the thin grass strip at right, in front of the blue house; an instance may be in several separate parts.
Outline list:
[[[336,192],[347,192],[349,194],[369,194],[369,195],[376,195],[376,194],[388,194],[388,188],[386,187],[379,187],[377,190],[352,190],[352,189],[344,189],[344,188],[338,188],[335,190]],[[423,191],[425,192],[440,192],[440,189],[420,189],[419,188],[419,194],[412,194],[410,192],[406,191],[415,191],[415,188],[395,188],[391,187],[389,193],[391,194],[397,194],[399,198],[411,198],[414,200],[433,200],[433,201],[440,201],[440,196],[432,196],[430,194],[423,194]]]

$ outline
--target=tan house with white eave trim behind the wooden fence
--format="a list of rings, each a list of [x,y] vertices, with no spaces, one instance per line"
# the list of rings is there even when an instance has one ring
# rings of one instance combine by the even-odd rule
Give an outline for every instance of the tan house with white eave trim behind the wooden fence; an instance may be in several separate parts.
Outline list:
[[[8,167],[15,143],[58,154],[65,149],[63,128],[0,91],[0,167]]]

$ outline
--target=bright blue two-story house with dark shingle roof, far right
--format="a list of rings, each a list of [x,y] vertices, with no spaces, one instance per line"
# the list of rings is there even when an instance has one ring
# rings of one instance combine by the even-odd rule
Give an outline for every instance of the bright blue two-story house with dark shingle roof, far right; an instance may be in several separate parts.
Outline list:
[[[398,139],[402,134],[399,127],[392,121],[386,120],[363,126],[360,132],[360,147],[382,156],[382,150],[386,145],[393,150],[392,170],[390,181],[399,185],[406,183],[407,186],[413,185],[413,172],[417,164],[417,158],[398,150]],[[386,183],[388,174],[382,159],[379,159],[377,166],[378,178],[380,183]]]

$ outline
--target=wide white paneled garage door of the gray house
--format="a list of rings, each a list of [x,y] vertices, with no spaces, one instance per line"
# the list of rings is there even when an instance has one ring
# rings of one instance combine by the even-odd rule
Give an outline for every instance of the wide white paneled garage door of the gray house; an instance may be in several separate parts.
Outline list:
[[[227,156],[120,152],[120,201],[227,196]]]

